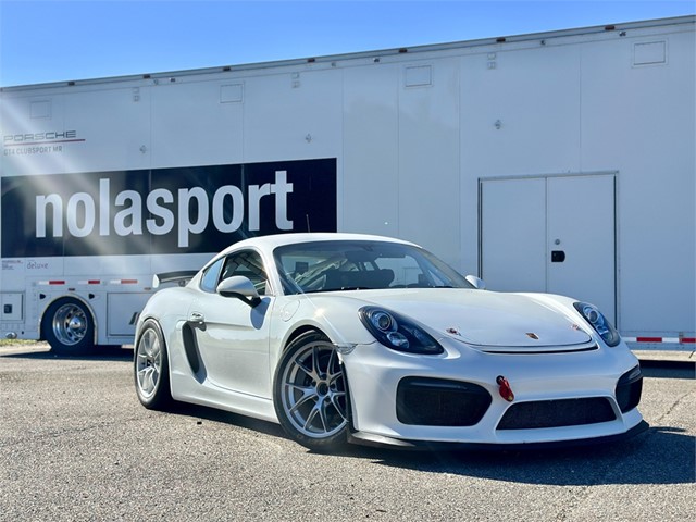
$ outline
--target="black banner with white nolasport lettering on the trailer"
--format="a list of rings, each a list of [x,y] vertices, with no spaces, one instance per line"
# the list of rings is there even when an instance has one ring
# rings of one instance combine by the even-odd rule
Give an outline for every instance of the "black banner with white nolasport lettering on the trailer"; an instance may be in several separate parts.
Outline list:
[[[335,232],[336,160],[2,178],[1,257],[216,252]]]

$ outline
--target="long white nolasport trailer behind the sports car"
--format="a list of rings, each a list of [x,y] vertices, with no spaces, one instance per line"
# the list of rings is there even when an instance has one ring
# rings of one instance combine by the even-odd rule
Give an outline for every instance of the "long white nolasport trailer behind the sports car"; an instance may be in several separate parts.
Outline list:
[[[0,334],[127,344],[153,274],[344,231],[693,349],[695,21],[2,88]]]

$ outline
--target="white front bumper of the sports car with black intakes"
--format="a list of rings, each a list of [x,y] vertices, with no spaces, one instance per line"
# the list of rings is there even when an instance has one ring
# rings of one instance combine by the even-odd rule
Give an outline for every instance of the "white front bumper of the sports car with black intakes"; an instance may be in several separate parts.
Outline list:
[[[353,438],[514,447],[599,442],[647,426],[635,407],[638,361],[623,344],[504,355],[449,343],[445,350],[414,356],[375,343],[345,355]],[[500,393],[499,376],[510,384],[511,401]],[[629,376],[631,400],[619,386]]]

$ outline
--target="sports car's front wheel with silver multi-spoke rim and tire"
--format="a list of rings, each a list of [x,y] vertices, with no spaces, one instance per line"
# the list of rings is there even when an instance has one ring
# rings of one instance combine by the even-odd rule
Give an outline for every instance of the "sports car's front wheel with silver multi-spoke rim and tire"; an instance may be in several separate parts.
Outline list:
[[[319,332],[290,343],[273,384],[273,406],[285,432],[302,446],[327,451],[346,444],[348,383],[336,348]]]

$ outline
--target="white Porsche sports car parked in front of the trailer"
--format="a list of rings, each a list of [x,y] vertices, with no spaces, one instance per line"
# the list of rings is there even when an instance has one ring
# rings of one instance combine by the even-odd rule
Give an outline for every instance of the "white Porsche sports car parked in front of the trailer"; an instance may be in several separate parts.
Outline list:
[[[192,273],[191,273],[192,274]],[[162,274],[139,316],[140,402],[279,422],[298,443],[613,440],[648,427],[637,359],[592,304],[501,294],[420,247],[353,234],[247,239]]]

